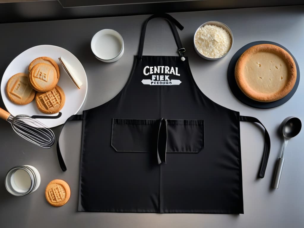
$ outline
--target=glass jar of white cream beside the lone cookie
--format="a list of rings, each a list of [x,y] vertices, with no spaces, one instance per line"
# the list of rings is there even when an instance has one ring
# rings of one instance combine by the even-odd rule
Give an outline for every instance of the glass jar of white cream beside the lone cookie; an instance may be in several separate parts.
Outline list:
[[[35,192],[40,185],[40,174],[31,165],[11,168],[5,177],[6,190],[12,195],[23,196]]]

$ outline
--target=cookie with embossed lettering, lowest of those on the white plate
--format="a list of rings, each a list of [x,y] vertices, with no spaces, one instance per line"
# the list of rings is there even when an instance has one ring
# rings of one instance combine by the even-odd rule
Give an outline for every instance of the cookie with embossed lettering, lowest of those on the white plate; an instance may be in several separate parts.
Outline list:
[[[65,102],[65,95],[63,90],[56,85],[56,87],[50,91],[36,93],[35,101],[40,112],[54,114],[62,109]]]

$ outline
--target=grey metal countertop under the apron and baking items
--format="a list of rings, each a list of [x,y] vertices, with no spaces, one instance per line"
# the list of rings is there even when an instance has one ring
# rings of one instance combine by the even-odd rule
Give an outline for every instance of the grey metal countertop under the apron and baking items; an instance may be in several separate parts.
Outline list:
[[[288,102],[272,109],[255,109],[244,105],[233,96],[226,75],[233,54],[240,47],[256,40],[271,40],[288,48],[298,61],[302,72],[303,12],[303,6],[292,6],[172,13],[172,16],[185,26],[179,34],[199,88],[220,105],[238,110],[241,115],[257,117],[270,134],[271,154],[266,174],[264,179],[257,179],[264,143],[263,131],[258,125],[240,123],[244,215],[77,212],[81,122],[67,123],[62,131],[60,145],[67,164],[67,171],[62,172],[55,147],[47,150],[37,147],[17,136],[9,123],[1,121],[0,227],[304,227],[303,131],[288,143],[280,188],[273,189],[271,186],[275,164],[282,147],[278,127],[287,116],[304,119],[303,77],[298,90]],[[147,16],[126,16],[1,24],[0,75],[10,61],[27,48],[40,44],[57,45],[78,57],[86,70],[88,95],[81,110],[103,104],[125,85],[132,67],[133,55],[137,52],[140,27],[146,18]],[[228,25],[234,37],[230,53],[217,61],[203,60],[193,48],[195,30],[202,23],[211,20]],[[123,36],[125,53],[117,62],[102,63],[90,50],[92,36],[104,28],[115,29]],[[153,19],[149,22],[143,54],[177,55],[174,38],[164,20]],[[0,106],[4,107],[2,100]],[[56,136],[59,128],[53,128]],[[15,197],[6,191],[4,177],[10,168],[23,164],[33,165],[38,169],[41,184],[33,194]],[[71,187],[70,201],[59,208],[50,206],[44,197],[46,185],[55,178],[64,179]]]

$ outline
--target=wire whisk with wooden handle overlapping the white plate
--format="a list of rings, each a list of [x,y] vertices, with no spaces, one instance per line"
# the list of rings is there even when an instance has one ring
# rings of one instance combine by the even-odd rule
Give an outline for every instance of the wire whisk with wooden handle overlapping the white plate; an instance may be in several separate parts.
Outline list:
[[[12,124],[13,130],[22,138],[43,148],[50,148],[55,143],[52,130],[43,123],[26,115],[12,116],[0,108],[0,118]]]

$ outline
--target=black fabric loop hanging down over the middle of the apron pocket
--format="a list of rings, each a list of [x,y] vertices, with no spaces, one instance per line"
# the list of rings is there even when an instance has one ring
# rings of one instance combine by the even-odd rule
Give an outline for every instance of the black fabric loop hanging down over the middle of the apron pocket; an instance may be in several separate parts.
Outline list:
[[[161,118],[159,120],[159,128],[157,135],[157,162],[166,164],[167,153],[167,119]]]

